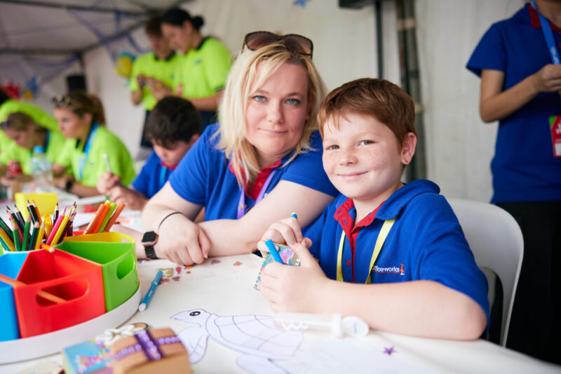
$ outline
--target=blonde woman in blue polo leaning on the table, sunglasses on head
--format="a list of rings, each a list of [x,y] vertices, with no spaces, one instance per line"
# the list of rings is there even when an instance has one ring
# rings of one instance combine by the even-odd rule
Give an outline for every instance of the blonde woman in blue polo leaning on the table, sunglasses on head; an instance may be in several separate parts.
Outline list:
[[[220,122],[144,208],[144,227],[155,232],[145,234],[148,257],[189,265],[250,253],[271,223],[296,212],[306,226],[337,196],[321,162],[316,114],[325,88],[312,51],[300,35],[245,36]]]

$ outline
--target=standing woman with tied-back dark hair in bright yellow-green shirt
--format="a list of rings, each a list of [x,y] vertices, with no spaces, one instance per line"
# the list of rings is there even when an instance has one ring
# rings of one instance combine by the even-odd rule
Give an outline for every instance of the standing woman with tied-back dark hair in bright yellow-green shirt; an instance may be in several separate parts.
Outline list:
[[[182,54],[170,87],[161,81],[148,82],[157,100],[167,95],[186,98],[201,113],[201,129],[216,121],[219,91],[224,88],[231,55],[222,42],[201,34],[203,18],[173,8],[162,16],[162,34],[170,47]]]

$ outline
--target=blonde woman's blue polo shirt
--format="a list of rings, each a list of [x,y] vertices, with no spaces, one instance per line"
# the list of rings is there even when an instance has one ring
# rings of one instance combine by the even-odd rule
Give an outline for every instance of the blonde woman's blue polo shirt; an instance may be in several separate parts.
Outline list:
[[[217,124],[205,129],[201,138],[189,149],[175,173],[171,175],[170,185],[183,199],[205,206],[205,220],[235,220],[242,189],[229,169],[226,154],[217,149],[219,137],[212,138],[217,130]],[[280,180],[288,180],[337,196],[337,189],[323,171],[319,133],[311,136],[310,144],[313,151],[300,154],[287,166],[276,168],[266,189],[267,193],[271,192]],[[255,205],[255,200],[246,194],[245,203],[249,210]]]

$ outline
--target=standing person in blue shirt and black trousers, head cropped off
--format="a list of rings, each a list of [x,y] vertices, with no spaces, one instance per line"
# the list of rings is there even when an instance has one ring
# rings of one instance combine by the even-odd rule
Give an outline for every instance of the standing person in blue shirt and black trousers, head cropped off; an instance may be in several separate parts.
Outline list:
[[[511,213],[524,237],[506,347],[555,363],[561,363],[561,65],[550,51],[559,54],[560,27],[560,1],[525,4],[489,27],[467,63],[481,77],[481,119],[499,121],[491,202]]]

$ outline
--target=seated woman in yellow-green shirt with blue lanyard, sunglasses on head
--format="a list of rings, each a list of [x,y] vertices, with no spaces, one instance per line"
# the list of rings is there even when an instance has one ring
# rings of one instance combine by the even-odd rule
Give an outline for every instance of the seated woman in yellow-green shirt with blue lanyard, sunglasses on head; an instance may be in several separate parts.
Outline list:
[[[53,185],[78,196],[94,196],[99,194],[95,185],[104,171],[119,175],[125,185],[133,182],[133,159],[123,142],[104,126],[103,107],[97,97],[70,92],[53,98],[53,105],[62,135],[74,140],[66,143],[58,160],[61,166],[72,168],[72,175],[53,169]]]

